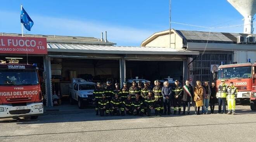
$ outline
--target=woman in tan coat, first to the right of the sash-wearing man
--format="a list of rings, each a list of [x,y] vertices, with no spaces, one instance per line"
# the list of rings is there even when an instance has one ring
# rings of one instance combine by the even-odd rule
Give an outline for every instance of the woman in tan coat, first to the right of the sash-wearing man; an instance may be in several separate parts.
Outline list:
[[[201,86],[201,81],[197,80],[194,88],[195,115],[200,115],[199,113],[200,106],[203,106],[203,104],[196,105],[196,102],[203,100],[203,94],[204,94],[204,89]]]

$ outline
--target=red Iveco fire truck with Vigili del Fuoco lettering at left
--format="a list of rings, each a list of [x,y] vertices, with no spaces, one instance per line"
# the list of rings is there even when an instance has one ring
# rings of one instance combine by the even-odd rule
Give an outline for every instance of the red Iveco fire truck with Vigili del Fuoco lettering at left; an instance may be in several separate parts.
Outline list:
[[[0,60],[0,118],[38,118],[43,114],[38,68],[17,59],[7,62]]]

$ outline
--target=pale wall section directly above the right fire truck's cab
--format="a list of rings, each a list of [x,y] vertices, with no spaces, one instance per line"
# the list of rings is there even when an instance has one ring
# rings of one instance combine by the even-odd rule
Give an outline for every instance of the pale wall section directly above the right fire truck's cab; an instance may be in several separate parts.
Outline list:
[[[234,51],[234,62],[247,63],[247,59],[251,59],[251,62],[256,61],[256,51]]]

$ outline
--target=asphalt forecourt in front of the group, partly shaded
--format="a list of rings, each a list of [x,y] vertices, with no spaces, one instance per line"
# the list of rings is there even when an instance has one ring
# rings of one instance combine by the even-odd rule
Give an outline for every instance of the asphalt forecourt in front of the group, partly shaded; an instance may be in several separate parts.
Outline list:
[[[99,117],[93,109],[45,112],[37,120],[0,119],[0,142],[255,142],[256,112],[248,105],[236,109],[236,115],[162,117]]]

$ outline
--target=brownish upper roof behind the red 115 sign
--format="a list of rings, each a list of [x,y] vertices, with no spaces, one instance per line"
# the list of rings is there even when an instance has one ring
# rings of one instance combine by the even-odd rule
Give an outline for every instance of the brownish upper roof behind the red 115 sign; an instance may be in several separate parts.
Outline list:
[[[3,36],[18,36],[21,34],[2,33]],[[67,43],[67,44],[93,44],[93,45],[116,45],[114,42],[100,41],[95,37],[77,37],[77,36],[62,36],[62,35],[36,35],[36,34],[23,34],[24,37],[44,37],[47,43]]]

